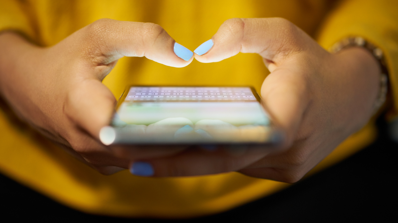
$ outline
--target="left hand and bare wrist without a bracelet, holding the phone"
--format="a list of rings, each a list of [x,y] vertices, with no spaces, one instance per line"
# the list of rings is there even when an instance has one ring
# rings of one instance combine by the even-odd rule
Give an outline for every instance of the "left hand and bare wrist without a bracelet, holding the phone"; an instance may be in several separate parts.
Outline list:
[[[101,144],[100,129],[109,124],[116,102],[102,79],[123,56],[184,67],[193,60],[185,49],[159,25],[111,19],[100,19],[48,48],[5,32],[0,35],[0,91],[21,119],[78,159],[111,174],[128,168],[131,160],[168,156],[183,148],[129,148],[129,156],[118,158]]]

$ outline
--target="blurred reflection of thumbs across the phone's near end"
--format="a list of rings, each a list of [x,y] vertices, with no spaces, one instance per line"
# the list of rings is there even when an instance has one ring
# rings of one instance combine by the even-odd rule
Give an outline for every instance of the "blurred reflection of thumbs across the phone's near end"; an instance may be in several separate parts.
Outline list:
[[[103,127],[100,140],[111,144],[264,144],[277,143],[269,125],[235,126],[218,119],[193,123],[185,117],[166,118],[149,125],[127,124],[115,115],[113,126]]]

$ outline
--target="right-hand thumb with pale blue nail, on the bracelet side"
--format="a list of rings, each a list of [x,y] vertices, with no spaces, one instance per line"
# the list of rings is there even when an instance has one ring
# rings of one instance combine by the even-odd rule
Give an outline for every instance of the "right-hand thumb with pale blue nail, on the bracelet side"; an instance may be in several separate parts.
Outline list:
[[[275,63],[287,54],[300,51],[306,35],[293,23],[282,18],[228,19],[217,33],[194,50],[202,63],[219,62],[242,53],[257,53]]]

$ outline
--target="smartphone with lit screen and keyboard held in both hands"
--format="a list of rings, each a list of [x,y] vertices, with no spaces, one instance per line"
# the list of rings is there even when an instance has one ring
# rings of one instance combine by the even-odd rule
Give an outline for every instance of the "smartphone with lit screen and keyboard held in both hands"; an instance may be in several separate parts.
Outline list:
[[[100,140],[112,144],[277,144],[253,87],[129,86]]]

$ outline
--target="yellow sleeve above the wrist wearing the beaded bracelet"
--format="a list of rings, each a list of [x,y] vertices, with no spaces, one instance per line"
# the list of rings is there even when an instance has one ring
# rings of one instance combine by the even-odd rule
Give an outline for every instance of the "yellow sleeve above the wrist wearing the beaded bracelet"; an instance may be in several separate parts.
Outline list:
[[[329,49],[349,36],[360,36],[380,47],[386,58],[394,115],[398,111],[398,1],[345,0],[326,18],[318,35]]]

